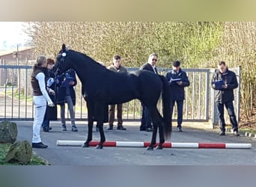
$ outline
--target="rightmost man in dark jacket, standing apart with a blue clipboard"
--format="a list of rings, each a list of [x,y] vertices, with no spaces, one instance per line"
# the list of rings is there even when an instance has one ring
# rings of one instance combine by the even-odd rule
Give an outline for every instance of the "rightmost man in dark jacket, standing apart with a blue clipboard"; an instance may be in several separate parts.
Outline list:
[[[238,87],[237,76],[234,72],[228,70],[224,61],[219,62],[216,73],[213,74],[212,87],[215,90],[215,102],[219,115],[219,135],[225,135],[224,105],[228,110],[233,132],[239,136],[237,117],[234,113],[234,89]],[[219,84],[221,84],[219,86]]]

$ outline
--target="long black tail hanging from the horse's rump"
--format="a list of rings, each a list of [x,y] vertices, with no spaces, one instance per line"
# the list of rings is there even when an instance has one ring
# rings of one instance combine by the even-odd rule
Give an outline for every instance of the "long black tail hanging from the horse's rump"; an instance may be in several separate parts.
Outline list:
[[[162,114],[163,114],[163,120],[164,120],[164,136],[165,140],[168,140],[171,138],[171,89],[168,85],[167,80],[164,76],[159,76],[162,79]]]

